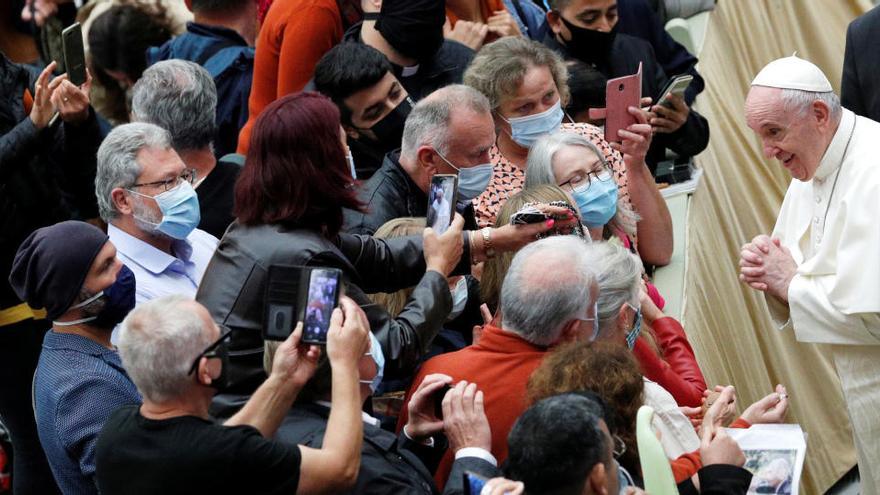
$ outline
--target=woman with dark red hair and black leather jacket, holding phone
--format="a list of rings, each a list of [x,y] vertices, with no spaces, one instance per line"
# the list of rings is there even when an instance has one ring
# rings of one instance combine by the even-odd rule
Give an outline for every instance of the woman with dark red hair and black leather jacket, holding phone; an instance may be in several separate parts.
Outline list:
[[[441,236],[374,239],[341,233],[342,209],[361,209],[346,161],[339,111],[317,93],[296,93],[257,118],[235,188],[230,225],[202,279],[199,302],[232,329],[229,389],[213,413],[228,415],[265,379],[262,327],[272,265],[322,266],[343,273],[344,292],[366,312],[382,344],[384,376],[412,374],[452,307],[446,277],[470,270],[460,217]],[[424,243],[424,249],[423,249]],[[389,315],[367,293],[415,286]],[[231,400],[232,402],[226,402]],[[228,406],[228,409],[227,409]]]

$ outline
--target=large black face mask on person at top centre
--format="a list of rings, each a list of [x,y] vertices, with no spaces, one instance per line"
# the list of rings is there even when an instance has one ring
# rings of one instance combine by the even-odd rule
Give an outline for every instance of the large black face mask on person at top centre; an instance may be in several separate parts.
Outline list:
[[[431,59],[443,45],[444,22],[445,2],[385,0],[376,18],[376,30],[395,50],[421,62]]]

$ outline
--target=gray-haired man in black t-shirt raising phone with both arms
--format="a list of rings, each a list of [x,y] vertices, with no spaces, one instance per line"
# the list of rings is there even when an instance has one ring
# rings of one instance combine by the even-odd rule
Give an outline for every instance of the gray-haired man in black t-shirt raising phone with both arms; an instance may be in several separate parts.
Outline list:
[[[349,490],[360,467],[363,422],[358,363],[370,349],[364,312],[342,297],[325,351],[332,407],[319,448],[271,437],[315,372],[322,349],[300,345],[302,324],[281,343],[269,377],[224,424],[211,398],[226,386],[230,330],[183,296],[150,301],[122,323],[119,354],[143,396],[108,419],[96,450],[103,495],[152,493],[318,493]]]

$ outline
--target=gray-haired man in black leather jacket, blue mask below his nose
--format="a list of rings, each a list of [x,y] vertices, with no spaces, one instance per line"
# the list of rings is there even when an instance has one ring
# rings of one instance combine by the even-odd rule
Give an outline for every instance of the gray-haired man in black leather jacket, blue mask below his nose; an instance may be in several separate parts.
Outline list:
[[[479,91],[462,84],[440,88],[413,107],[403,129],[399,152],[385,155],[382,167],[361,186],[366,212],[345,211],[345,228],[356,234],[373,234],[385,222],[402,217],[424,217],[428,189],[435,174],[458,176],[456,210],[464,217],[472,261],[495,252],[521,248],[553,227],[553,223],[506,225],[477,230],[471,200],[492,178],[489,149],[495,143],[495,123],[489,101]],[[570,218],[565,208],[542,209]]]

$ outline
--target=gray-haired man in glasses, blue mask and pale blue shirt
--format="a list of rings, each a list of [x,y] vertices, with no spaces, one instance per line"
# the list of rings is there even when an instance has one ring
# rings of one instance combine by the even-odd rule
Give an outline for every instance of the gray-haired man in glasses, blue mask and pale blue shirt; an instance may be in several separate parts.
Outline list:
[[[153,124],[113,129],[98,149],[95,195],[119,259],[135,274],[136,300],[194,297],[217,238],[199,230],[194,172]]]

